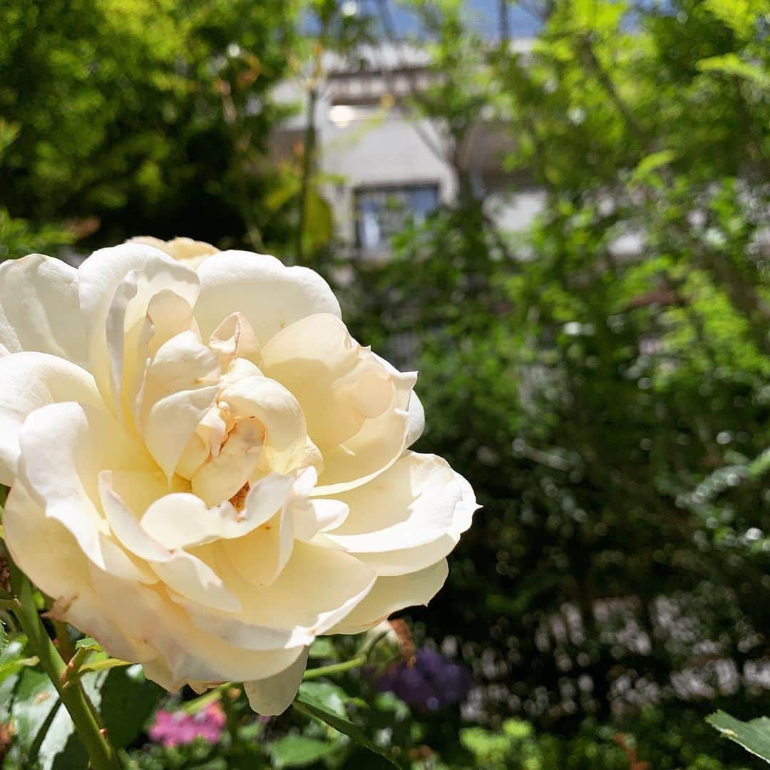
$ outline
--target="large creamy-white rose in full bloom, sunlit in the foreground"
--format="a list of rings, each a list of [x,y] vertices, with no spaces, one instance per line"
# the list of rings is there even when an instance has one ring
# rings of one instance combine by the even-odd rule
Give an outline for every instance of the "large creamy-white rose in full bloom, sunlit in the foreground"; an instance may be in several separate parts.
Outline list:
[[[425,604],[473,491],[326,282],[189,239],[0,266],[5,537],[53,613],[169,690],[283,711],[319,634]]]

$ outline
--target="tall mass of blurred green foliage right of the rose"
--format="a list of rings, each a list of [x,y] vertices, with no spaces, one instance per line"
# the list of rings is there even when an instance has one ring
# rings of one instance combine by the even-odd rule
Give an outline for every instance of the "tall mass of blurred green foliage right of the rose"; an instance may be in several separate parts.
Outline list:
[[[499,187],[475,186],[350,295],[367,339],[403,333],[392,352],[414,351],[402,363],[431,418],[420,446],[485,505],[430,633],[464,640],[493,724],[755,694],[770,631],[766,8],[553,2],[531,50],[474,46],[478,80],[460,75],[467,38],[447,34],[460,8],[416,8],[439,83],[417,109],[460,142],[482,117],[503,126],[504,192],[524,178],[546,196],[530,233],[501,237]]]

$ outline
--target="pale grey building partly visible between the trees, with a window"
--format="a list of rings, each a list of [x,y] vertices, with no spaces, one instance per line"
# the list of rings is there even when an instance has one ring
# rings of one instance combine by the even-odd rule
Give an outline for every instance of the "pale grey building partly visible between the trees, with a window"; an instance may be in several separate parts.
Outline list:
[[[513,42],[522,50],[529,42]],[[387,256],[390,235],[408,216],[417,221],[440,202],[457,196],[457,179],[447,162],[448,148],[430,120],[415,120],[403,101],[425,88],[434,76],[427,53],[404,46],[363,49],[353,69],[327,57],[325,81],[318,89],[315,109],[316,147],[320,172],[332,181],[324,186],[333,210],[336,235],[350,256]],[[302,104],[306,93],[299,83],[286,82],[276,92],[283,102]],[[306,115],[286,122],[274,137],[278,153],[302,142]],[[490,216],[501,229],[527,225],[541,210],[542,192],[518,179],[513,195],[495,191],[511,187],[502,170],[511,138],[493,126],[470,132],[460,149],[464,166],[489,198]]]

